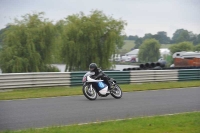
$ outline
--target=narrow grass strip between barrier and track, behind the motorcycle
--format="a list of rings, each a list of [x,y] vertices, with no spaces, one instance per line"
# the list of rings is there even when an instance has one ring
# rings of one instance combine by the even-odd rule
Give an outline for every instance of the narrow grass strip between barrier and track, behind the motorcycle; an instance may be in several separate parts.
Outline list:
[[[143,83],[143,84],[124,84],[120,85],[123,92],[159,90],[169,88],[184,88],[200,86],[199,81],[184,82],[159,82],[159,83]],[[41,98],[41,97],[57,97],[82,95],[82,87],[43,87],[43,88],[24,88],[13,89],[12,91],[0,92],[0,100]]]

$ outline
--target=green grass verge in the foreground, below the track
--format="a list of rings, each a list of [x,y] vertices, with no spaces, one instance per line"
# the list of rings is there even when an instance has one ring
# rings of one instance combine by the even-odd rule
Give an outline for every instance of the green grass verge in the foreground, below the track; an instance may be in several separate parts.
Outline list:
[[[4,133],[200,133],[200,112]]]

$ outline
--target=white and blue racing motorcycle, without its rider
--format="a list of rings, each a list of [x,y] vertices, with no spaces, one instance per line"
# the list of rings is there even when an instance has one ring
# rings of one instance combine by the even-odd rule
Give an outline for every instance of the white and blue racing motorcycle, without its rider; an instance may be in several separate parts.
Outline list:
[[[94,72],[87,72],[82,79],[82,91],[87,99],[95,100],[97,98],[97,94],[100,97],[107,97],[111,94],[116,99],[120,99],[122,97],[122,90],[119,85],[116,84],[114,79],[109,79],[111,89],[108,89],[108,86],[103,80],[94,79],[93,75]]]

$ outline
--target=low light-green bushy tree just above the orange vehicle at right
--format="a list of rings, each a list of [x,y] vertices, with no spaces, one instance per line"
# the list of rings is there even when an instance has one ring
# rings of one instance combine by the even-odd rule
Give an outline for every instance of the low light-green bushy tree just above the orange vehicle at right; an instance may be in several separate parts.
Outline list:
[[[169,49],[172,54],[174,54],[175,52],[181,52],[181,51],[192,51],[193,44],[191,42],[181,42],[181,43],[170,46]]]

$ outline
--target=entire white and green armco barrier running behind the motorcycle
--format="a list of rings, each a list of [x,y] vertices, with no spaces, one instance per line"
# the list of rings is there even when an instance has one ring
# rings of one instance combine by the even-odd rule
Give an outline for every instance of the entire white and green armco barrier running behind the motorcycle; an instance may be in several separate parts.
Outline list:
[[[78,86],[86,72],[40,72],[0,74],[0,89],[43,86]],[[105,71],[119,84],[200,80],[200,69]]]

